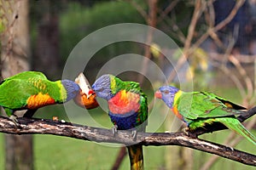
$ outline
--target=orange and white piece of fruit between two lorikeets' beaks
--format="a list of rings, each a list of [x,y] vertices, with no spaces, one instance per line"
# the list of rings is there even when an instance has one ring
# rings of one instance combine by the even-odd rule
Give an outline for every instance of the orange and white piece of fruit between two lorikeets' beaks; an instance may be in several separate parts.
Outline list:
[[[79,77],[75,79],[75,82],[79,84],[80,92],[73,100],[74,102],[86,109],[94,109],[99,106],[96,101],[96,93],[90,88],[90,84],[87,81],[86,77],[84,77],[83,73],[79,74]]]

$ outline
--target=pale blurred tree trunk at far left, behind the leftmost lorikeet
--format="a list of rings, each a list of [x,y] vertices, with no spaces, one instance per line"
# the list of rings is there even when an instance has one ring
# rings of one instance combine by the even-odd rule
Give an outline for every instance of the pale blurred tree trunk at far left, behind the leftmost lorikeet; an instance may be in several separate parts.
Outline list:
[[[30,42],[28,29],[28,0],[2,1],[7,20],[1,38],[2,76],[10,77],[28,71]],[[32,135],[5,135],[5,169],[33,169]]]

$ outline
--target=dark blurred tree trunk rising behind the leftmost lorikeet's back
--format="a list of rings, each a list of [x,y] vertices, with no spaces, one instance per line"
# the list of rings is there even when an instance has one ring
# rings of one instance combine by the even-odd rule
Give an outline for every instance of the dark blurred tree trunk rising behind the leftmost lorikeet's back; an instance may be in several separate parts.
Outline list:
[[[32,59],[32,70],[43,71],[49,79],[61,77],[59,54],[59,11],[55,1],[41,1],[35,5],[43,8],[39,17],[36,49]],[[61,3],[59,3],[61,5]],[[59,6],[60,6],[59,5]]]

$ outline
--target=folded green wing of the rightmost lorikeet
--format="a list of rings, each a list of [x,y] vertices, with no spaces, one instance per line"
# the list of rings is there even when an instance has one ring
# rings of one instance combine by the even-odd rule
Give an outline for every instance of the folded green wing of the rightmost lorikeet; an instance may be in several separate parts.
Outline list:
[[[236,105],[228,102],[215,94],[205,92],[183,93],[178,99],[177,110],[183,116],[184,120],[195,120],[198,118],[214,118],[222,116],[233,116],[243,113],[232,109],[230,105]],[[236,105],[238,107],[239,105]],[[241,107],[241,106],[240,106]],[[244,109],[243,107],[241,107]]]

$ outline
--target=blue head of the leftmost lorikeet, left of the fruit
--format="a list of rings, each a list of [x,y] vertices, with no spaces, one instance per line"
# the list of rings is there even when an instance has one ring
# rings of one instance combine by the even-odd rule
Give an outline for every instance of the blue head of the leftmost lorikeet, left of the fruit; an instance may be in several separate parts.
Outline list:
[[[79,85],[76,82],[71,80],[61,80],[61,84],[67,91],[67,99],[65,99],[65,101],[75,98],[80,92]]]

